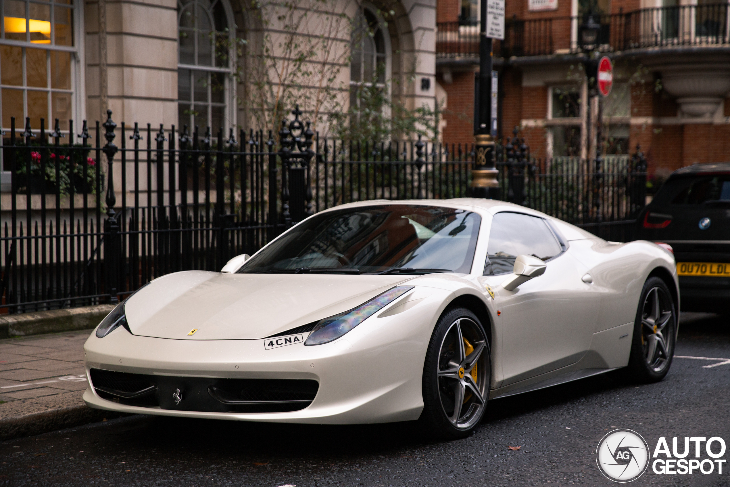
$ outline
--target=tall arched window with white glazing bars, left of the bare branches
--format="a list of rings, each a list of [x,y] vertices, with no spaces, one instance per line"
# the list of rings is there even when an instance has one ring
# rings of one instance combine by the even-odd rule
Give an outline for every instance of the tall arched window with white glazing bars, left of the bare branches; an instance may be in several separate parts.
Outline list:
[[[180,129],[210,126],[212,134],[234,124],[231,110],[231,55],[234,30],[224,0],[177,3],[180,58],[177,67],[177,117]]]

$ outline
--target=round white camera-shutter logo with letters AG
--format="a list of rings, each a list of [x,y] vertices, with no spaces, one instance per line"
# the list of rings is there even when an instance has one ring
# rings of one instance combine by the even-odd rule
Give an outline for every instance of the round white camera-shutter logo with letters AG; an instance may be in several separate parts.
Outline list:
[[[637,480],[649,466],[649,445],[631,429],[614,429],[599,441],[596,464],[614,482]]]

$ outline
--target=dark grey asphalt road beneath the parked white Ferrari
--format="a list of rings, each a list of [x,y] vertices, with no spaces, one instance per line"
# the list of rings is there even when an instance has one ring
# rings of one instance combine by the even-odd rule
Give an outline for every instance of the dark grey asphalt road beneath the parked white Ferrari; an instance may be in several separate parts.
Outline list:
[[[676,355],[730,358],[730,320],[694,318],[680,325]],[[612,429],[633,429],[652,451],[659,437],[670,449],[679,437],[680,450],[683,437],[730,443],[730,363],[704,367],[716,363],[675,358],[661,383],[603,375],[497,399],[472,437],[453,442],[429,440],[413,423],[118,418],[0,443],[0,486],[616,485],[595,457]],[[728,447],[722,458],[730,460]],[[704,445],[701,453],[710,458]],[[729,486],[725,465],[721,475],[657,475],[649,467],[631,485]]]

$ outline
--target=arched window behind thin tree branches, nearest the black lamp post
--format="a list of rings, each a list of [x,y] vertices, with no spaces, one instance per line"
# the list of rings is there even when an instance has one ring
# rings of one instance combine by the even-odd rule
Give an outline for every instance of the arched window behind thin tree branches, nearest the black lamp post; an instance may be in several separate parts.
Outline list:
[[[369,5],[360,7],[350,44],[350,107],[361,107],[366,91],[385,90],[390,77],[390,39]]]

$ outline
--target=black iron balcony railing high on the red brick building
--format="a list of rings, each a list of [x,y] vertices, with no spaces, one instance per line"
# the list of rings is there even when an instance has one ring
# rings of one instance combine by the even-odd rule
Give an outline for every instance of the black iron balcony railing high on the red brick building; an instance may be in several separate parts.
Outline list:
[[[500,57],[576,53],[579,18],[507,19]],[[730,45],[730,6],[724,4],[656,7],[601,16],[601,50],[642,47]],[[479,27],[437,23],[436,57],[479,58]]]

